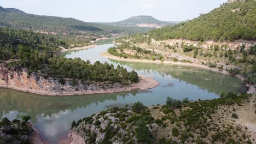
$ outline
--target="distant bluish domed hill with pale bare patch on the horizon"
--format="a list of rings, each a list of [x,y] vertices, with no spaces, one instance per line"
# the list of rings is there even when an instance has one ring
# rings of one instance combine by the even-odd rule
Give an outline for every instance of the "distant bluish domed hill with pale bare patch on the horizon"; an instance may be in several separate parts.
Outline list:
[[[129,19],[118,22],[106,22],[100,23],[103,25],[120,26],[120,27],[149,27],[149,28],[161,28],[165,26],[175,25],[166,21],[160,21],[152,16],[140,15],[132,16]]]

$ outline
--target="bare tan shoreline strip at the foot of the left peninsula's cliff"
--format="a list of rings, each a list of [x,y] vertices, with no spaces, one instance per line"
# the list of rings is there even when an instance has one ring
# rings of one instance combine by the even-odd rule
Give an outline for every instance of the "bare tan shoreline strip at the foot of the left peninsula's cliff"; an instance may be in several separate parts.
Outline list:
[[[87,95],[87,94],[104,94],[104,93],[117,93],[117,92],[129,92],[136,89],[140,90],[147,90],[152,89],[154,87],[157,87],[160,85],[160,83],[156,80],[154,80],[151,77],[147,76],[139,76],[139,81],[136,83],[131,83],[129,86],[120,86],[110,89],[99,89],[99,90],[84,90],[84,91],[42,91],[39,89],[25,89],[22,87],[16,87],[16,86],[8,86],[0,84],[1,88],[10,88],[15,89],[16,91],[22,91],[22,92],[28,92],[28,93],[34,93],[38,95],[49,95],[49,96],[71,96],[71,95]]]

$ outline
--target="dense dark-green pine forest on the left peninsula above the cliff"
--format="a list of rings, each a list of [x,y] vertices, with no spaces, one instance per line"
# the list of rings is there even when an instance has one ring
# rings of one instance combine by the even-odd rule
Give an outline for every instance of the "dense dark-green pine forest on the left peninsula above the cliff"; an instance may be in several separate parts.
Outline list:
[[[28,69],[28,74],[36,73],[47,77],[59,79],[82,79],[97,82],[137,82],[135,71],[130,73],[123,67],[117,69],[108,63],[96,62],[90,64],[80,58],[65,58],[55,55],[60,50],[58,46],[66,46],[53,35],[37,34],[26,30],[0,28],[0,59],[19,59],[8,63],[10,70]],[[74,81],[75,82],[75,81]]]

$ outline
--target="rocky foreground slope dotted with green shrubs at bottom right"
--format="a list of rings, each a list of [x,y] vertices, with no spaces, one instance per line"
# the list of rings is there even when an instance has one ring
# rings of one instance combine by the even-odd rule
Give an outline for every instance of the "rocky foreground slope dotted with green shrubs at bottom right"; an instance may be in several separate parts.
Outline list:
[[[240,124],[240,109],[249,103],[255,96],[234,93],[193,102],[168,98],[166,105],[149,107],[138,102],[80,119],[71,130],[86,143],[253,143],[252,131]]]

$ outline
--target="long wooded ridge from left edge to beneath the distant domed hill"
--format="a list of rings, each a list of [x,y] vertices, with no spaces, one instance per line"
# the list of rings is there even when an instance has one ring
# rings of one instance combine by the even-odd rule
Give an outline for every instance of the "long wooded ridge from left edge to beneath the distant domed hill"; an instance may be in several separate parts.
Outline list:
[[[41,16],[27,14],[24,11],[14,8],[0,7],[0,26],[18,29],[30,29],[42,33],[77,35],[83,34],[98,37],[112,37],[114,34],[133,34],[148,32],[148,28],[138,27],[117,27],[89,23],[73,18],[57,16]]]

